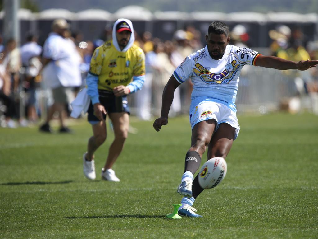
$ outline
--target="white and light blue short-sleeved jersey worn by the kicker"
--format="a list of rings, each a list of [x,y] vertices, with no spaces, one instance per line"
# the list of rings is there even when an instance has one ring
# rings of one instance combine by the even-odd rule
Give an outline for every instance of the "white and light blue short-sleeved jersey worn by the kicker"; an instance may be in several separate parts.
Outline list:
[[[173,75],[179,83],[193,83],[190,110],[205,100],[221,103],[236,112],[235,98],[239,74],[244,65],[255,65],[259,53],[252,49],[227,45],[223,57],[211,58],[207,46],[187,56]]]

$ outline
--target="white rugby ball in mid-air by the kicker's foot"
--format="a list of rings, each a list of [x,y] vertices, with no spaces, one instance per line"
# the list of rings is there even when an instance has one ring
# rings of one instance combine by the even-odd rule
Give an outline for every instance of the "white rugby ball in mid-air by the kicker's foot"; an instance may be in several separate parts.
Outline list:
[[[198,179],[202,188],[214,188],[219,185],[226,175],[227,165],[222,157],[214,157],[202,166]]]

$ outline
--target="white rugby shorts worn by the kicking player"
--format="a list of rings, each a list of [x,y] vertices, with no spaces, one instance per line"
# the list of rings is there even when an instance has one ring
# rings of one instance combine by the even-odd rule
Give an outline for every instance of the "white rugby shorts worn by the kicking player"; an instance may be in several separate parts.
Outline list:
[[[197,104],[197,106],[190,110],[189,121],[191,129],[198,122],[210,119],[214,119],[217,121],[215,131],[218,130],[219,124],[227,123],[236,129],[234,139],[236,139],[239,135],[240,128],[236,113],[226,105],[205,100],[204,102],[200,102],[199,104]]]

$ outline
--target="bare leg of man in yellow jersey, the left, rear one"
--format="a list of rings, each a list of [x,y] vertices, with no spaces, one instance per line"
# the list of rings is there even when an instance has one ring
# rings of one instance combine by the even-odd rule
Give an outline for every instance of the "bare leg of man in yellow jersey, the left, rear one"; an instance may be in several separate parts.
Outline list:
[[[103,142],[106,140],[106,123],[105,120],[98,122],[95,125],[92,125],[93,129],[93,136],[90,137],[87,144],[87,154],[86,160],[93,160],[94,159],[94,152]]]

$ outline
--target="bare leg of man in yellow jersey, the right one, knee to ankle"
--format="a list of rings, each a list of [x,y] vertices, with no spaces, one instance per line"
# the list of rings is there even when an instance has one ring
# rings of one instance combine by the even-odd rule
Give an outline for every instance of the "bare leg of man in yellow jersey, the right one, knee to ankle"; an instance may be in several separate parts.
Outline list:
[[[112,120],[114,127],[115,139],[111,146],[109,147],[109,152],[107,156],[107,161],[105,163],[104,169],[111,169],[120,155],[124,142],[128,136],[129,128],[129,115],[126,112],[121,113],[110,113],[109,118]]]

